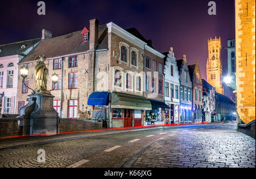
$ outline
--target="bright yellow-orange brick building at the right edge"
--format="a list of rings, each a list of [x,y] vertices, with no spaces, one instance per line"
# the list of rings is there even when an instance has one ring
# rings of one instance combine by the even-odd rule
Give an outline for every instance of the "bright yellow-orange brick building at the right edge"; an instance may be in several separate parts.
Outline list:
[[[255,1],[236,0],[235,6],[237,119],[247,124],[255,119]]]

